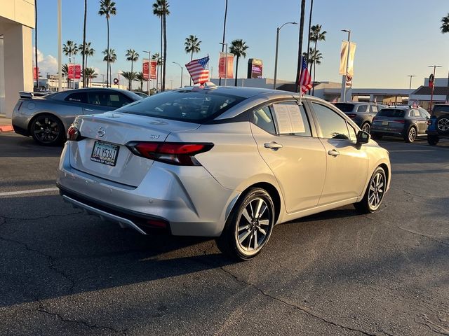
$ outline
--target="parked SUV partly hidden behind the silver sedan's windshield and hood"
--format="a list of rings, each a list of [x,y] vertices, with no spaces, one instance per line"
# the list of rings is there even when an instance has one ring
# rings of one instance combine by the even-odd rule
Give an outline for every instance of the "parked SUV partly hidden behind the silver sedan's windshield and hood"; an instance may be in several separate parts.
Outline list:
[[[351,118],[362,131],[367,133],[371,132],[373,118],[380,109],[374,103],[347,102],[334,103],[334,105],[342,112],[346,113],[346,115]]]

